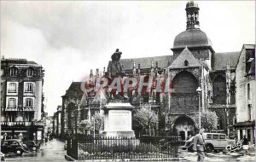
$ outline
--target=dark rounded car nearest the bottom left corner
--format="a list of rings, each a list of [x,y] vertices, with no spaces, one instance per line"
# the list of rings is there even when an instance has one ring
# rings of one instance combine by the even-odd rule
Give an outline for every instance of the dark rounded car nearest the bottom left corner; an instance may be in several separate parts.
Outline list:
[[[28,153],[28,149],[18,139],[5,140],[1,145],[3,153],[15,153],[21,156],[23,153]]]

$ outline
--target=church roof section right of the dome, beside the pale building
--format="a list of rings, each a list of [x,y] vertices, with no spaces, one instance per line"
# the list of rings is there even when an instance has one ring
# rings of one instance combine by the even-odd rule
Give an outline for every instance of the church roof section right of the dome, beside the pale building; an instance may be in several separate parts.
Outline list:
[[[229,64],[230,68],[234,68],[237,65],[239,59],[240,51],[238,52],[224,52],[224,53],[215,53],[214,60],[212,65],[213,71],[224,70]]]

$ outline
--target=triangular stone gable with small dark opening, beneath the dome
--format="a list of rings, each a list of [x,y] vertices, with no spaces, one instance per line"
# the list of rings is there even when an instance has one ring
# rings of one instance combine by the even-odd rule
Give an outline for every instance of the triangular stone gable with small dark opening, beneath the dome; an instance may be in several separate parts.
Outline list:
[[[182,53],[178,55],[177,58],[172,62],[169,68],[185,68],[185,61],[188,61],[187,67],[201,67],[200,62],[195,59],[195,56],[186,47],[183,49]]]

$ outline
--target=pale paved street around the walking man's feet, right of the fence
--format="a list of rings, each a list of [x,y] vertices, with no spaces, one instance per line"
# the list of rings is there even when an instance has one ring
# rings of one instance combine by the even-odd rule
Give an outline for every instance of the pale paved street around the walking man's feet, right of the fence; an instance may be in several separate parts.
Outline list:
[[[179,158],[182,161],[196,161],[197,153],[190,153],[186,150],[179,149]],[[224,154],[223,152],[218,153],[207,153],[205,161],[255,161],[255,151],[250,151],[248,155],[243,155],[243,153],[230,153]]]

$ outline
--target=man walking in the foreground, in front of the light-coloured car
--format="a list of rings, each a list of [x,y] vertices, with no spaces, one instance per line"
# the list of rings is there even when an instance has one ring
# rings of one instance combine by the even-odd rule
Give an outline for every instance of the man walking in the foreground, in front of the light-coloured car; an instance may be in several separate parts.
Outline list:
[[[197,152],[197,161],[205,161],[205,140],[202,136],[204,129],[201,128],[199,133],[194,137],[194,151]]]

